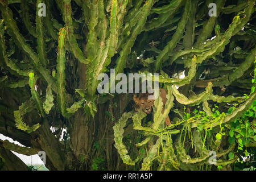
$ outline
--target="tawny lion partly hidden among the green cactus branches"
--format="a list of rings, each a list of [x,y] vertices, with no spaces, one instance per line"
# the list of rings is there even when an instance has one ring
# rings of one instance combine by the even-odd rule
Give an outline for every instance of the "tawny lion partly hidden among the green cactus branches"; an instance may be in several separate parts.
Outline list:
[[[155,100],[148,100],[149,93],[140,93],[139,96],[134,95],[133,100],[135,102],[135,111],[138,111],[140,108],[147,114],[150,114],[152,111],[152,106],[154,105]],[[160,88],[160,96],[162,97],[163,101],[163,109],[162,114],[164,113],[164,105],[166,104],[166,90]],[[171,125],[170,118],[167,115],[166,117],[166,125]]]

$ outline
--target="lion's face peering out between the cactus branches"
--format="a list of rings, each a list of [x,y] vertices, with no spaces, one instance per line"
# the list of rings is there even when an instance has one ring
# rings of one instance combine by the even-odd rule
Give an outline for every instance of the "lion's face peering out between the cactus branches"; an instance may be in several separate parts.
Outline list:
[[[140,108],[147,114],[150,114],[152,111],[152,106],[154,105],[155,100],[148,100],[148,93],[140,93],[139,96],[133,96],[135,101],[135,110],[138,111]]]

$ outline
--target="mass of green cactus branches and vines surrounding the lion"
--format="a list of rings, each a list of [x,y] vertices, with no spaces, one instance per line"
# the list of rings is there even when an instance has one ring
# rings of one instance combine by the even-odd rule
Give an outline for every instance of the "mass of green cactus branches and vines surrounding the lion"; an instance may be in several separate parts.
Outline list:
[[[121,169],[116,150],[126,169],[250,168],[241,156],[255,156],[256,146],[255,1],[217,0],[212,17],[207,3],[1,1],[1,131],[27,144],[25,131],[52,169]],[[111,68],[160,73],[164,112],[162,97],[147,115],[131,111],[128,94],[99,96],[97,78]]]

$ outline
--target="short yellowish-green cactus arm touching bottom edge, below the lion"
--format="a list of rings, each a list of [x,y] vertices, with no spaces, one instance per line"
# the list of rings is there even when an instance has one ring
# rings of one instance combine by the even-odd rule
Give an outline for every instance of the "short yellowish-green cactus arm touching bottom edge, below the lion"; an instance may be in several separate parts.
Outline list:
[[[160,142],[161,142],[161,139],[158,138],[158,140],[156,140],[154,146],[152,146],[150,148],[150,150],[148,151],[148,155],[146,156],[146,158],[143,159],[141,171],[149,171],[150,170],[150,165],[151,165],[152,161],[155,159],[156,155],[158,154],[158,147],[159,147]]]

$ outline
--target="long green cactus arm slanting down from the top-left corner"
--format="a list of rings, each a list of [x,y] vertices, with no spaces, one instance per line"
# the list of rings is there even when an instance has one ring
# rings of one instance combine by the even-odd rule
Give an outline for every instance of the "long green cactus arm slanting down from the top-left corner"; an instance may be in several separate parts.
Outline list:
[[[13,13],[7,5],[3,6],[0,4],[0,10],[2,18],[5,19],[6,26],[8,27],[9,34],[14,38],[14,42],[18,47],[21,47],[22,50],[30,57],[31,64],[34,67],[34,70],[40,74],[48,82],[52,84],[52,88],[57,92],[57,88],[53,78],[51,77],[49,71],[45,69],[41,64],[36,53],[31,49],[31,47],[25,42],[23,36],[19,33],[19,29],[13,19]]]

